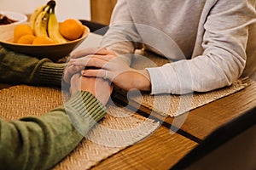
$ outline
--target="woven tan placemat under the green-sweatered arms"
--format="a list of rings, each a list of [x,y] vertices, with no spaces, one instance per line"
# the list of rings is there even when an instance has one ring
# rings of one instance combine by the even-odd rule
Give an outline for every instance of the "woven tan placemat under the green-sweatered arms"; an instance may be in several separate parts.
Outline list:
[[[0,90],[0,117],[5,120],[40,116],[62,104],[61,91],[55,88],[19,85]],[[89,169],[108,156],[145,139],[159,125],[159,122],[137,116],[124,108],[108,105],[107,116],[53,169]]]

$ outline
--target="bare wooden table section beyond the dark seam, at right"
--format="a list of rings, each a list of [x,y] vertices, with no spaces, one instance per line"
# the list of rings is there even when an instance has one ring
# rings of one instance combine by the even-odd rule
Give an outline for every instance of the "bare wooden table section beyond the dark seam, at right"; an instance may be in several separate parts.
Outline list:
[[[117,98],[117,102],[126,105],[124,96],[115,94],[115,98]],[[240,92],[230,94],[225,98],[218,99],[210,104],[189,111],[189,113],[186,114],[185,122],[183,122],[182,127],[180,127],[177,133],[182,133],[183,136],[200,143],[214,129],[226,122],[230,122],[230,120],[237,116],[241,116],[245,111],[248,111],[255,105],[256,82],[253,82]],[[155,116],[156,119],[164,121],[163,126],[167,128],[172,126],[174,120],[174,118],[170,116],[166,117],[158,113],[152,113],[151,110],[143,106],[140,106],[137,112],[146,117],[149,115]]]

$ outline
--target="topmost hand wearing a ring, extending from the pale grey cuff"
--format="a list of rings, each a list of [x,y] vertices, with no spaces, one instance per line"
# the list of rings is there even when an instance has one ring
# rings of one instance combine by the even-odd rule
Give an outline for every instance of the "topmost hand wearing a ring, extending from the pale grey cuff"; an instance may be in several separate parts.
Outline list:
[[[106,55],[90,54],[86,57],[73,58],[70,59],[70,64],[99,68],[85,69],[84,71],[81,71],[81,74],[84,77],[108,78],[119,88],[125,90],[136,88],[139,90],[150,91],[151,89],[148,71],[132,69],[123,59],[111,52]]]

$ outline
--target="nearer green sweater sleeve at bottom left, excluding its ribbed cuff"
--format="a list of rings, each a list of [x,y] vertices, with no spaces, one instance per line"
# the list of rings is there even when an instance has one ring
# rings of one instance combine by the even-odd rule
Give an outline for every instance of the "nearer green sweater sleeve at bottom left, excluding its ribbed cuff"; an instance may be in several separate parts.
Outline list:
[[[61,108],[48,113],[47,117],[1,121],[1,168],[48,169],[61,161],[82,138]]]

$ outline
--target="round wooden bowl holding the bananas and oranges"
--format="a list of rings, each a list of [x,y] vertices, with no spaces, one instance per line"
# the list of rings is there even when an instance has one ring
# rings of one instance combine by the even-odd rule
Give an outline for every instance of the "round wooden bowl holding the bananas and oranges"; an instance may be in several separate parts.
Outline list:
[[[54,62],[70,54],[90,33],[90,29],[84,26],[85,29],[82,37],[73,41],[49,45],[18,44],[14,42],[15,26],[9,26],[7,29],[3,28],[0,34],[0,45],[3,48],[8,48],[16,53],[31,55],[38,59],[48,58]]]

